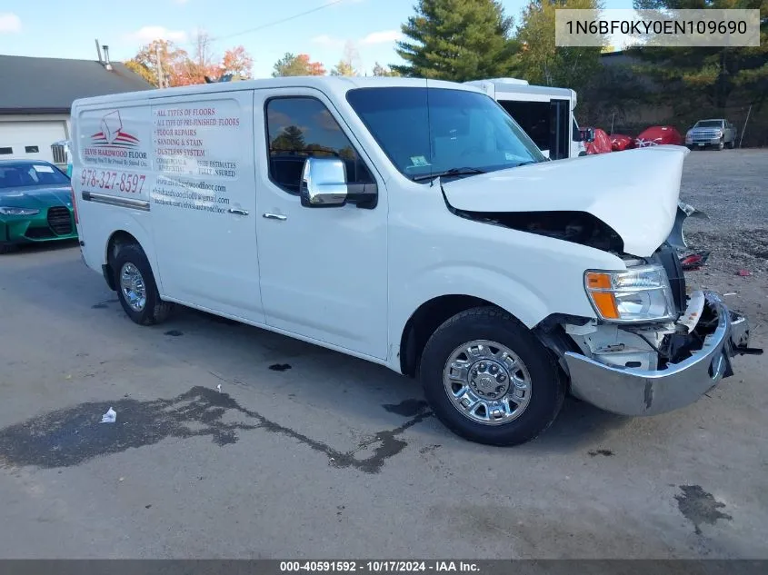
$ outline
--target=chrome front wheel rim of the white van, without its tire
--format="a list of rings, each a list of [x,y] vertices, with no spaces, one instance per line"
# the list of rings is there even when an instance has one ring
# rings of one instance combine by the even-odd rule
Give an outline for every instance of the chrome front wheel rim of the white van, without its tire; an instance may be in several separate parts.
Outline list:
[[[457,347],[445,362],[443,383],[456,410],[484,425],[517,419],[531,401],[531,376],[523,361],[488,340]]]

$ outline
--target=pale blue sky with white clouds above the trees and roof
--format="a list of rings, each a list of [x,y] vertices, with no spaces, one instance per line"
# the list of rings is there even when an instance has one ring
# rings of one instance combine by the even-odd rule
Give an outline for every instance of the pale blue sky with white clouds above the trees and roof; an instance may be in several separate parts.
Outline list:
[[[286,52],[308,54],[330,70],[352,45],[357,68],[398,64],[394,42],[416,0],[0,0],[0,54],[95,60],[95,40],[112,60],[126,60],[162,37],[192,52],[196,30],[214,38],[214,55],[243,45],[254,77],[272,74]],[[526,0],[503,0],[519,21]],[[631,8],[607,0],[606,8]],[[303,12],[306,15],[291,18]],[[254,28],[260,28],[254,30]]]

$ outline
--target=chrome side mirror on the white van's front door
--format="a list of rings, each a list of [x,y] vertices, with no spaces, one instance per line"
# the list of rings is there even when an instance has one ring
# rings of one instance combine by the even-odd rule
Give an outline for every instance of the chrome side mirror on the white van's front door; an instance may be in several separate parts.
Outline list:
[[[375,183],[347,183],[346,165],[339,158],[307,158],[299,193],[305,208],[341,207],[354,203],[358,208],[373,210],[379,199]]]

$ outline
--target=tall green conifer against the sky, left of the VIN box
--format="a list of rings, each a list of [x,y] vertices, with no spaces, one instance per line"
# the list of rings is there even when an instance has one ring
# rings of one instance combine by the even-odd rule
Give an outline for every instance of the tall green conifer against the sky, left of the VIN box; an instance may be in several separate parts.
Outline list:
[[[419,0],[397,42],[405,75],[464,82],[508,74],[517,44],[513,19],[494,0]]]

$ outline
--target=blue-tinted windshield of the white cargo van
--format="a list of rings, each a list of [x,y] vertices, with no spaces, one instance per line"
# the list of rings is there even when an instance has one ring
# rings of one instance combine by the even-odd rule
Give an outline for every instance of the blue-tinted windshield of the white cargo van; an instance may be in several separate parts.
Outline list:
[[[485,94],[384,87],[350,90],[346,98],[384,153],[410,178],[546,161],[504,108]]]

